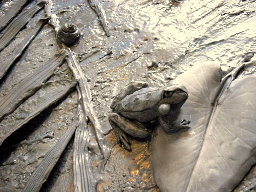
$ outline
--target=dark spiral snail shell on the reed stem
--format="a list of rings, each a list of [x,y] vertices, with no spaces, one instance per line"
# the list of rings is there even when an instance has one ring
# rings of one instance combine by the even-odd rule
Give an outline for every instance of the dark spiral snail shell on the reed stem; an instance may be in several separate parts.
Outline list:
[[[80,31],[75,24],[66,23],[57,33],[57,40],[66,46],[73,46],[80,36]]]

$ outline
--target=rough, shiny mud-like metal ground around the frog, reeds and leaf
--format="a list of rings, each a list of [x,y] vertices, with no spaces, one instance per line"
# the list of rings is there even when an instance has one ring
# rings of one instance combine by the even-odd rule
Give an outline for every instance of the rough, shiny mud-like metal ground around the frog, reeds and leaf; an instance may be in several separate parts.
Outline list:
[[[104,25],[111,33],[108,37],[108,31],[103,31],[90,2],[53,1],[52,12],[60,24],[74,23],[82,33],[72,50],[91,88],[94,110],[112,151],[103,174],[98,174],[99,159],[91,156],[97,191],[160,191],[153,178],[151,140],[130,138],[133,152],[127,152],[119,147],[110,131],[107,115],[120,88],[135,80],[164,86],[191,66],[206,60],[216,60],[226,73],[238,65],[245,52],[256,49],[254,1],[179,2],[99,1],[100,9],[105,12]],[[5,3],[4,7],[9,9],[9,2]],[[34,5],[35,2],[31,2],[25,8]],[[3,16],[1,14],[0,19]],[[42,16],[42,11],[35,14],[26,28],[2,50],[1,58],[7,58]],[[35,73],[58,50],[52,27],[45,25],[3,76],[0,98],[12,91],[20,80]],[[66,63],[55,73],[58,75],[53,75],[52,79],[73,78]],[[37,103],[31,99],[35,107]],[[0,191],[22,191],[49,149],[68,130],[76,108],[77,92],[72,92],[3,143],[0,150],[5,155],[0,158]],[[24,113],[18,113],[23,117]],[[152,129],[155,127],[153,124]],[[93,130],[90,124],[89,129]],[[96,138],[93,138],[89,148],[97,151],[95,143]],[[182,161],[182,157],[177,157],[177,161]],[[255,169],[251,172],[255,173]],[[255,190],[251,175],[248,175],[251,182],[245,179],[235,191]],[[40,191],[74,191],[72,140]]]

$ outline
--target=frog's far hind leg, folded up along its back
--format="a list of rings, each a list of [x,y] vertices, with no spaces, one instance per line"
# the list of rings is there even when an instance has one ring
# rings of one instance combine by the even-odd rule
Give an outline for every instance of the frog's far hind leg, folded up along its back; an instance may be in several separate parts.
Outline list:
[[[123,89],[120,90],[120,92],[114,97],[110,108],[111,109],[115,109],[117,103],[122,100],[124,97],[126,97],[127,95],[131,95],[133,94],[135,91],[138,91],[142,88],[146,88],[148,87],[148,84],[143,82],[143,81],[136,81],[136,82],[132,82],[127,84],[127,86],[125,86]]]

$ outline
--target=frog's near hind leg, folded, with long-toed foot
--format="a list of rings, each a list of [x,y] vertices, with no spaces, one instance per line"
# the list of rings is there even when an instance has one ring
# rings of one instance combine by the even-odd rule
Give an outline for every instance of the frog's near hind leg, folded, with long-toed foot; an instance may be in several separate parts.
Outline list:
[[[109,115],[109,121],[116,134],[118,144],[120,146],[123,145],[125,150],[132,151],[131,144],[126,134],[137,138],[146,138],[149,135],[149,132],[143,124],[132,122],[117,113],[111,113]]]

